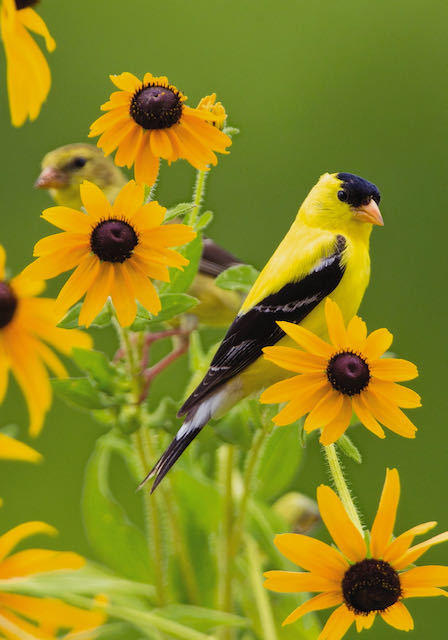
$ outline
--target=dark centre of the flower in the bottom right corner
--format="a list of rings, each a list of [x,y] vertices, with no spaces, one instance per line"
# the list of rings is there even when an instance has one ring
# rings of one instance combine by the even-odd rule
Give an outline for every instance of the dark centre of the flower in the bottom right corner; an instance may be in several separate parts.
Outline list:
[[[354,613],[384,611],[401,597],[400,578],[388,562],[367,558],[345,572],[342,593]]]

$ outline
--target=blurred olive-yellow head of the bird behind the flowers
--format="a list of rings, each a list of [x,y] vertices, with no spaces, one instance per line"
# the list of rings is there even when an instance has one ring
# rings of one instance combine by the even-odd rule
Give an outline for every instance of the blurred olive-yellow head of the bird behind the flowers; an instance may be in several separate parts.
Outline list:
[[[58,204],[79,208],[79,187],[84,180],[98,185],[111,201],[126,182],[122,171],[98,147],[75,143],[47,153],[34,186],[48,189]]]

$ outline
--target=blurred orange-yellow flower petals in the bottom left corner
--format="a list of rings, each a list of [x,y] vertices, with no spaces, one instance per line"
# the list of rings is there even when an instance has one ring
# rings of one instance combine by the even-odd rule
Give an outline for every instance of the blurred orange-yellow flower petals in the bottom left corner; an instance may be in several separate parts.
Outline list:
[[[0,580],[20,580],[61,570],[80,569],[85,560],[76,553],[49,549],[27,549],[10,555],[25,538],[36,534],[54,535],[44,522],[25,522],[0,536]],[[100,610],[86,611],[56,598],[24,596],[0,590],[0,631],[12,639],[52,640],[58,631],[70,630],[67,637],[93,632],[105,620]]]

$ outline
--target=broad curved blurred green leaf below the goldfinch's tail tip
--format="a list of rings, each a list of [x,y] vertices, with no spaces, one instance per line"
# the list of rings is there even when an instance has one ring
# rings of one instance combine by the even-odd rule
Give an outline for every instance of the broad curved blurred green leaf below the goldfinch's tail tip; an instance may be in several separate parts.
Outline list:
[[[109,488],[112,447],[108,436],[97,440],[87,465],[82,510],[87,537],[98,558],[119,574],[152,582],[148,544]]]

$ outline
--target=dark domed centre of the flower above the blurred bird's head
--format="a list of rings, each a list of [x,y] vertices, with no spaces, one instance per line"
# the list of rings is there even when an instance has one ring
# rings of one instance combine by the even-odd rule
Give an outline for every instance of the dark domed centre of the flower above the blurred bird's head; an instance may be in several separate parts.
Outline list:
[[[159,86],[143,87],[131,100],[129,112],[144,129],[167,129],[179,122],[182,102],[173,89]]]

